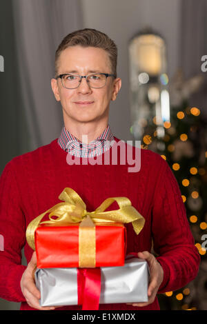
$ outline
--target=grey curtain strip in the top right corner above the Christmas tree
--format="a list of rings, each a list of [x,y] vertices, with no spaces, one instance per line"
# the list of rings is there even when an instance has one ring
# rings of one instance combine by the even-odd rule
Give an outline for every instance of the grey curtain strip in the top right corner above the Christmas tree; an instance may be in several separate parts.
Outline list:
[[[201,109],[207,121],[207,72],[201,71],[201,57],[207,55],[207,1],[182,0],[180,66],[185,79],[201,74],[204,82],[190,97],[189,104]]]

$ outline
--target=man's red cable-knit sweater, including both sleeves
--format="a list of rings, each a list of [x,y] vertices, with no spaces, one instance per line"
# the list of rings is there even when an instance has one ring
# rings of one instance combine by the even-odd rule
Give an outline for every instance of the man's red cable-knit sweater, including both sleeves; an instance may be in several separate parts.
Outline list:
[[[115,141],[119,141],[115,137]],[[125,144],[128,146],[127,144]],[[110,148],[110,152],[111,152]],[[135,148],[133,148],[135,150]],[[127,150],[126,150],[127,151]],[[89,212],[103,200],[127,196],[146,223],[137,236],[131,224],[127,229],[127,252],[151,251],[164,269],[159,293],[177,290],[195,279],[199,254],[190,232],[179,186],[168,163],[159,154],[141,149],[141,169],[128,172],[127,163],[117,165],[68,165],[67,153],[57,139],[37,150],[17,156],[3,170],[0,178],[0,297],[22,302],[21,310],[31,310],[21,292],[23,271],[21,250],[27,262],[32,249],[26,243],[26,227],[36,216],[59,203],[64,188],[74,189]],[[82,162],[81,158],[80,161]],[[117,209],[112,203],[108,210]],[[60,310],[81,310],[79,306]],[[126,304],[100,305],[99,310],[159,310],[157,298],[147,307]]]

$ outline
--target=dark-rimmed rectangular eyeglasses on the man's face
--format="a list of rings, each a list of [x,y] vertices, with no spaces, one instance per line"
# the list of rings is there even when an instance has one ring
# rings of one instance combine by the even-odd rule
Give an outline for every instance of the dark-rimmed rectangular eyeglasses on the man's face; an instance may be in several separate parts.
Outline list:
[[[86,79],[90,88],[103,88],[106,85],[108,77],[114,77],[115,74],[108,73],[93,73],[88,75],[77,75],[77,74],[60,74],[56,79],[61,79],[61,83],[66,89],[78,88],[83,78]]]

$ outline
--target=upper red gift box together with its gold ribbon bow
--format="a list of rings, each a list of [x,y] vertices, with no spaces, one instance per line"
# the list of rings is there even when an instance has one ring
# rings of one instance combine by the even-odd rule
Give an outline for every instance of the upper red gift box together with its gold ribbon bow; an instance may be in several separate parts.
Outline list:
[[[57,203],[34,218],[26,230],[28,245],[37,252],[37,267],[116,267],[124,265],[126,228],[136,234],[144,218],[127,197],[105,199],[93,212],[72,188],[65,188]],[[117,202],[118,210],[106,211]],[[49,214],[48,214],[49,213]],[[48,220],[42,221],[48,214]],[[55,219],[53,218],[55,216]]]

